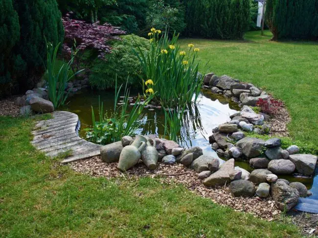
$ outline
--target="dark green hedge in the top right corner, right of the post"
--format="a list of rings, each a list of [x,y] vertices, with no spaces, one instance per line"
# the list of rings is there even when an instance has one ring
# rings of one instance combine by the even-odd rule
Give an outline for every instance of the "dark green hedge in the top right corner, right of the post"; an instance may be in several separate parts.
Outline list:
[[[266,21],[273,40],[317,40],[318,0],[267,0]]]

